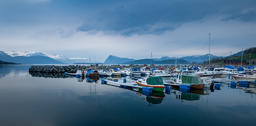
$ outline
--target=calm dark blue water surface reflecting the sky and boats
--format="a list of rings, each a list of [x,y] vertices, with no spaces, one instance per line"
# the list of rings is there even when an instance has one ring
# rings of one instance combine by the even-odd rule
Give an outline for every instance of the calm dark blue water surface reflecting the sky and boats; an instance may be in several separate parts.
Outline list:
[[[254,88],[245,93],[224,85],[213,92],[171,90],[147,97],[98,78],[29,74],[29,67],[0,65],[0,125],[255,124]]]

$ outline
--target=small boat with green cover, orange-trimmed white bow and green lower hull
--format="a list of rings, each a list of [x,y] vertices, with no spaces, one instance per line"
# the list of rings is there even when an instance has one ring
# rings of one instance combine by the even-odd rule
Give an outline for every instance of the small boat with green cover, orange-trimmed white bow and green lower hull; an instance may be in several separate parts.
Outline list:
[[[152,87],[153,91],[163,91],[163,89],[165,89],[165,85],[163,85],[161,77],[140,78],[136,83],[142,87]]]

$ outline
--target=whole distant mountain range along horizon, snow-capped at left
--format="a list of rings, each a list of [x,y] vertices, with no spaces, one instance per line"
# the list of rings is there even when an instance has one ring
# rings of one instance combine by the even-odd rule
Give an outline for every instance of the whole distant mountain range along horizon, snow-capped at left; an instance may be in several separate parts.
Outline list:
[[[238,53],[239,54],[239,53]],[[210,59],[217,58],[216,55],[210,55]],[[176,57],[164,56],[161,58],[153,58],[153,64],[175,64]],[[183,59],[183,60],[179,60]],[[188,64],[188,62],[201,63],[209,59],[209,54],[195,55],[177,58],[179,64]],[[74,63],[94,63],[100,61],[90,60],[90,58],[67,58],[62,55],[49,55],[42,52],[22,52],[22,51],[9,51],[4,52],[0,50],[0,60],[15,62],[19,64],[74,64]],[[166,60],[166,61],[165,61]],[[161,62],[157,62],[161,61]],[[165,63],[163,63],[165,62]],[[129,59],[120,58],[117,56],[109,55],[103,64],[151,64],[151,59]]]

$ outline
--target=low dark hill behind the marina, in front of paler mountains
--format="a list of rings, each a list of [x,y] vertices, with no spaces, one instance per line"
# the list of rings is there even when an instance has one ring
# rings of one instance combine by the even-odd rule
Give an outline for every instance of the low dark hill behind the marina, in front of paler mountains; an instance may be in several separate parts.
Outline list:
[[[169,59],[169,60],[161,60],[161,61],[155,61],[152,60],[152,64],[154,65],[174,65],[175,64],[175,59]],[[177,59],[178,64],[180,65],[187,65],[189,64],[189,61],[186,61],[184,59]],[[124,62],[121,65],[151,65],[151,59],[139,59],[139,60],[135,60],[135,61],[129,61],[129,62]]]

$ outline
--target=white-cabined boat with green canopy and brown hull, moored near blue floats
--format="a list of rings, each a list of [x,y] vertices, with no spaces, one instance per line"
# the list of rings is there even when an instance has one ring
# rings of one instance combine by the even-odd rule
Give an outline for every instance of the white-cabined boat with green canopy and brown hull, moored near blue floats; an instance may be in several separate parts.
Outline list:
[[[194,89],[203,89],[204,87],[204,83],[202,83],[200,76],[196,75],[178,74],[176,77],[171,77],[170,82],[178,85],[190,85],[190,88]]]

